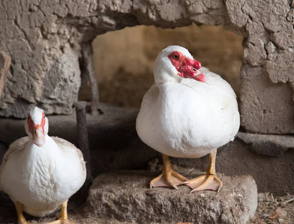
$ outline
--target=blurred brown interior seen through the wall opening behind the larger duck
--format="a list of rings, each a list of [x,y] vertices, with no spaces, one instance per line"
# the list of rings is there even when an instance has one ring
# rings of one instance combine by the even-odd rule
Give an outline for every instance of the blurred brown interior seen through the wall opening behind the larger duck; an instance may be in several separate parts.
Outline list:
[[[202,66],[228,81],[239,96],[242,41],[243,37],[221,26],[195,24],[175,29],[140,25],[99,35],[93,50],[100,101],[139,108],[154,82],[157,54],[169,45],[186,47]],[[79,98],[90,101],[89,84]]]

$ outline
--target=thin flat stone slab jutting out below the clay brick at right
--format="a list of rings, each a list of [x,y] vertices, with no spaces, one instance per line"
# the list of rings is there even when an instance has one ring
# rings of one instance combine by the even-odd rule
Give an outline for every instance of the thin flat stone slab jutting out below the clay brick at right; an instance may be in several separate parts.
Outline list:
[[[294,148],[293,135],[251,134],[239,132],[237,137],[242,139],[246,144],[252,144],[251,149],[264,155],[282,156],[288,149]]]

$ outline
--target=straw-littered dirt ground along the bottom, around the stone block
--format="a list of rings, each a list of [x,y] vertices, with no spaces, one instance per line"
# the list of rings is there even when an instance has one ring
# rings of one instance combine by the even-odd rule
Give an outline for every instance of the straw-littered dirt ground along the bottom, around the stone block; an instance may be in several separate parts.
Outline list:
[[[274,197],[270,193],[258,194],[258,208],[255,216],[247,224],[294,224],[294,195],[286,195],[281,197]],[[273,219],[271,219],[271,218]],[[52,222],[54,217],[35,219],[26,216],[27,221],[31,223]],[[82,207],[74,208],[73,202],[70,202],[69,218],[72,222],[77,224],[131,224],[122,223],[116,220],[103,220],[98,217],[89,217],[87,211]],[[17,217],[14,206],[9,204],[0,205],[0,224],[16,224]],[[157,224],[157,223],[152,223]],[[196,223],[195,223],[196,224]]]

